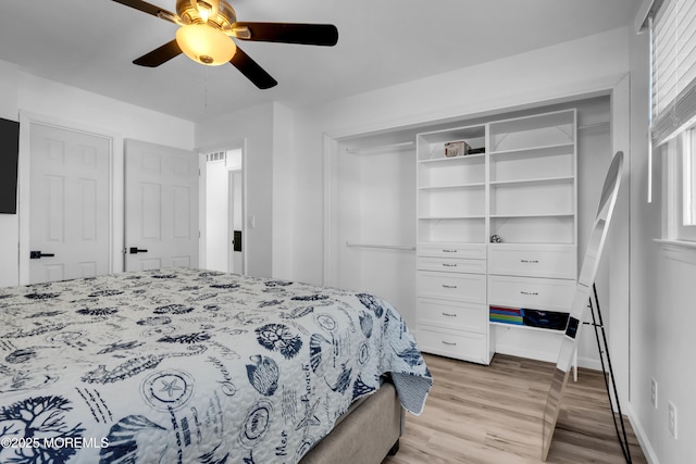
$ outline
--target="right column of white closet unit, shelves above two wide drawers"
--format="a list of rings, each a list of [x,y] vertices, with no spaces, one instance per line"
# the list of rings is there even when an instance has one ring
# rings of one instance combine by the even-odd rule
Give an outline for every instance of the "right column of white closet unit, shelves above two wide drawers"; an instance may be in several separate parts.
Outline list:
[[[548,328],[529,331],[529,316],[558,316],[572,305],[577,278],[576,126],[575,110],[490,123],[489,234],[501,242],[488,244],[488,306],[525,312],[522,326],[495,323],[493,337],[526,329],[517,337],[554,346],[562,336],[562,330]]]

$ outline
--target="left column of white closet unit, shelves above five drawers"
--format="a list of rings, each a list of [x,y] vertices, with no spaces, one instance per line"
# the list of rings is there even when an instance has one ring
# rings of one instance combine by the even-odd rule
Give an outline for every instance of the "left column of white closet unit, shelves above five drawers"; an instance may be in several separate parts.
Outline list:
[[[487,126],[417,136],[417,317],[421,350],[488,364]],[[465,143],[465,146],[463,143]],[[448,156],[448,143],[483,152]]]

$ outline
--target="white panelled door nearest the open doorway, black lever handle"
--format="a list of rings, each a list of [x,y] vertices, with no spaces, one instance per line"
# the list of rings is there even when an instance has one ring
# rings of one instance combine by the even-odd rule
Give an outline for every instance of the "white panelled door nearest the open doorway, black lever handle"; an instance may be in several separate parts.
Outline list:
[[[198,158],[125,141],[126,271],[198,266]]]

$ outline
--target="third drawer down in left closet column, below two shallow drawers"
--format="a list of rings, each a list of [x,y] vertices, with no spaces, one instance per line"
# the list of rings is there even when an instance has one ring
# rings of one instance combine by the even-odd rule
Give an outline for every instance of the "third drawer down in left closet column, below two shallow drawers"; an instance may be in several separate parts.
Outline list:
[[[486,303],[486,276],[484,274],[455,274],[418,272],[419,297]]]

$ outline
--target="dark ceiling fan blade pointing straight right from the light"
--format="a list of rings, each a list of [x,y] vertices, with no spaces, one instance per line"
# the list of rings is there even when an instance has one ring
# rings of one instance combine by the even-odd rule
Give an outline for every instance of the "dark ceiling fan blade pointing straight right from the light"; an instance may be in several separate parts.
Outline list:
[[[237,22],[233,25],[233,28],[244,27],[249,29],[250,37],[238,37],[243,40],[325,47],[338,42],[338,29],[333,24]]]

